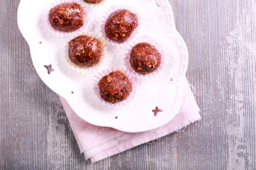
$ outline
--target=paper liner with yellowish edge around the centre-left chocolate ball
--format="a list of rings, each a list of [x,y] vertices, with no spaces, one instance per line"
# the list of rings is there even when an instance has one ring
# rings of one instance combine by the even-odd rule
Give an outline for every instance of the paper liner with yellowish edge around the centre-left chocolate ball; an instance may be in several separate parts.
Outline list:
[[[99,63],[97,65],[94,65],[93,67],[80,67],[80,66],[74,64],[73,62],[71,62],[69,55],[68,55],[68,43],[70,42],[70,40],[78,37],[79,35],[87,35],[89,37],[93,37],[93,38],[96,38],[97,40],[99,40],[100,47],[102,49],[102,54],[101,54]],[[90,75],[92,73],[101,71],[100,68],[101,68],[102,64],[106,61],[107,47],[106,47],[105,41],[102,37],[99,37],[94,32],[84,31],[82,34],[77,34],[76,36],[68,39],[67,44],[64,47],[63,53],[64,53],[64,58],[66,59],[67,64],[69,66],[71,66],[73,70],[76,70],[78,73],[81,73],[84,75]]]

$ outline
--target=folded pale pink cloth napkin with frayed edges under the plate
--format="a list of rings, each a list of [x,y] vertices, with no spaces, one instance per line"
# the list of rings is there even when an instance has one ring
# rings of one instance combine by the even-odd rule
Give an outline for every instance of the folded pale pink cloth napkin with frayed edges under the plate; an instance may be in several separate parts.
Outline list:
[[[175,118],[162,127],[141,133],[125,133],[109,127],[91,125],[76,116],[65,99],[60,99],[80,151],[92,163],[166,136],[201,119],[200,109],[187,81],[184,83],[183,102]]]

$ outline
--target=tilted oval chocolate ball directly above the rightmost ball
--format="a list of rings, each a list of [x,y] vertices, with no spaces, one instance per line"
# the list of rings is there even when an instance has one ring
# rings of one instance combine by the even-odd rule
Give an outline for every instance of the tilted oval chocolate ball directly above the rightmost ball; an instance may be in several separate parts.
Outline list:
[[[106,37],[118,43],[125,42],[137,26],[137,14],[127,9],[119,9],[108,17],[105,24]]]

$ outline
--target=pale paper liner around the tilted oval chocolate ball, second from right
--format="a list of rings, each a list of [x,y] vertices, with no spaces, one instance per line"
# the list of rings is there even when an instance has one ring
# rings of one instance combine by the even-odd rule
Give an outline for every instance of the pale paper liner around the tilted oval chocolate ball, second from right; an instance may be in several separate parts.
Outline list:
[[[137,28],[133,31],[133,33],[131,34],[131,37],[129,37],[129,39],[123,43],[118,43],[118,42],[112,41],[108,37],[106,37],[106,34],[105,34],[105,23],[108,20],[109,15],[119,9],[128,9],[132,13],[137,14],[137,17],[138,17]],[[130,44],[132,42],[132,40],[134,39],[134,37],[138,34],[138,32],[140,30],[140,20],[141,20],[141,18],[140,18],[139,12],[131,6],[122,6],[122,5],[111,6],[111,8],[109,8],[102,16],[102,22],[101,22],[101,26],[100,26],[102,36],[106,39],[106,42],[108,42],[108,44],[111,44],[111,45],[117,46],[117,47],[125,47],[126,45]]]

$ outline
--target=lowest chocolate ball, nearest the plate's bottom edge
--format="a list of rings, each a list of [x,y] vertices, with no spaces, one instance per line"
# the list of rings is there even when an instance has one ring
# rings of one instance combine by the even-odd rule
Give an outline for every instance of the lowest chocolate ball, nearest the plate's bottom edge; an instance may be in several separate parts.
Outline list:
[[[132,91],[131,82],[121,71],[102,77],[98,86],[102,99],[113,104],[127,99]]]

